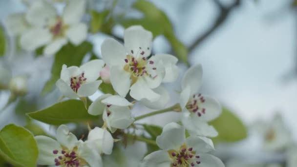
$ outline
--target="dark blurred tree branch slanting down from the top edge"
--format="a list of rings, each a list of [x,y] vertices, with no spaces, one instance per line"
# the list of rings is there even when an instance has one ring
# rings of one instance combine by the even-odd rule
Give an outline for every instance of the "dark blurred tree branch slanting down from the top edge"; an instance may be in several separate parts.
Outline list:
[[[225,7],[221,4],[219,0],[213,0],[213,2],[219,8],[220,13],[218,17],[215,19],[212,27],[208,29],[206,32],[204,32],[204,34],[202,34],[198,39],[196,39],[193,44],[191,44],[191,46],[189,47],[189,53],[191,53],[191,51],[194,48],[196,48],[201,42],[206,40],[215,30],[217,30],[222,25],[222,23],[226,21],[231,11],[240,4],[240,0],[235,0],[233,4],[231,4],[229,7]]]

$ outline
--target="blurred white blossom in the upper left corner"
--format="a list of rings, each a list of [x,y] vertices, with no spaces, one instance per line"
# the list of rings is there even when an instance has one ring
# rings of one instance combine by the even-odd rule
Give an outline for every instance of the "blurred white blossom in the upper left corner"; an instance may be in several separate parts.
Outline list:
[[[44,46],[44,55],[53,55],[68,41],[82,43],[87,36],[87,25],[81,22],[85,13],[85,0],[67,0],[63,14],[58,15],[54,5],[46,0],[30,3],[26,13],[9,16],[8,28],[21,35],[21,47],[33,51]]]

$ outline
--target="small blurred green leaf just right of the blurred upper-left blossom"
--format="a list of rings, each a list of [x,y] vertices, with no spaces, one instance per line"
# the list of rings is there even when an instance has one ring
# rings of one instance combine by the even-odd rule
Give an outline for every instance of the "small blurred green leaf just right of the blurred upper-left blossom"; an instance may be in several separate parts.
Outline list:
[[[105,32],[107,34],[111,33],[111,28],[114,25],[114,22],[112,17],[107,19],[109,13],[109,10],[104,10],[102,12],[97,12],[95,10],[90,11],[90,15],[92,17],[90,21],[90,30],[92,33],[96,33],[98,31]]]

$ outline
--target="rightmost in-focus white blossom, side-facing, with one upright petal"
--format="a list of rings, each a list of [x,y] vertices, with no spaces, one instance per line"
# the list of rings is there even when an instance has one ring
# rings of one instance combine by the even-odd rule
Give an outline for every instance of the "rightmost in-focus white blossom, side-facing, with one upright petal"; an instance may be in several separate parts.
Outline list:
[[[213,98],[198,93],[202,83],[202,66],[191,66],[182,78],[180,106],[182,123],[190,135],[215,137],[218,135],[213,126],[207,122],[217,118],[221,113],[220,104]]]

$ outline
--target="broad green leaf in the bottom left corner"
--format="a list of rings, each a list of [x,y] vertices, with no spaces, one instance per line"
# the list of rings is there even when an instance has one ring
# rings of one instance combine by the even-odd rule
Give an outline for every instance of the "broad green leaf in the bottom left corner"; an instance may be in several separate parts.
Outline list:
[[[36,167],[37,143],[25,128],[6,125],[0,131],[0,156],[16,167]]]

